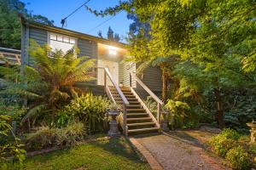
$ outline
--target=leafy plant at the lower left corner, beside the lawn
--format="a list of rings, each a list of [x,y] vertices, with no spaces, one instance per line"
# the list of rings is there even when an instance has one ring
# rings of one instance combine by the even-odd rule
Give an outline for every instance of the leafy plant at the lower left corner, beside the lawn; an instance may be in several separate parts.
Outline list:
[[[12,127],[9,125],[10,116],[0,115],[0,167],[7,168],[9,156],[14,156],[12,160],[18,161],[22,166],[25,160],[25,150],[21,149],[20,139],[15,137]],[[12,139],[9,139],[9,138]]]

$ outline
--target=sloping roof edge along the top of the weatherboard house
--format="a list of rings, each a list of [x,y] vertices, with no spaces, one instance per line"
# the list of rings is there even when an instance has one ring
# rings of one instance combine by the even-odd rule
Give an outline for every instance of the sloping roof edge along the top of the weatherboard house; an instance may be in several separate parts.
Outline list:
[[[57,33],[66,34],[68,36],[81,37],[81,38],[84,38],[84,39],[87,39],[90,41],[101,42],[101,43],[119,47],[119,48],[125,48],[125,46],[127,45],[123,42],[113,42],[113,41],[109,41],[108,39],[105,39],[105,38],[91,36],[89,34],[84,34],[79,31],[67,30],[65,28],[61,28],[61,27],[57,27],[57,26],[48,26],[48,25],[44,25],[44,24],[41,24],[41,23],[38,23],[38,22],[35,22],[32,20],[26,20],[23,16],[20,16],[20,21],[23,25],[26,25],[26,26],[43,29],[45,31],[54,31]]]

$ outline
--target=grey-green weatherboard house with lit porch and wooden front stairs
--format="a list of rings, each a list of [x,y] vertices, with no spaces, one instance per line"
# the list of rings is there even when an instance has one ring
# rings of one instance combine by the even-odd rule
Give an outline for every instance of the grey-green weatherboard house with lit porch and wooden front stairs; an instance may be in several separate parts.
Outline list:
[[[158,103],[158,117],[162,102],[156,94],[161,90],[161,74],[158,68],[146,69],[137,77],[137,64],[125,62],[128,58],[125,43],[112,42],[100,37],[67,29],[46,26],[23,18],[21,35],[21,65],[29,65],[27,48],[29,39],[40,45],[49,44],[66,52],[73,46],[80,50],[79,56],[96,59],[96,81],[81,82],[80,88],[90,89],[94,94],[108,94],[116,104],[123,104],[123,127],[126,134],[160,129],[160,118],[149,111],[144,99],[151,96]],[[78,57],[79,57],[78,56]]]

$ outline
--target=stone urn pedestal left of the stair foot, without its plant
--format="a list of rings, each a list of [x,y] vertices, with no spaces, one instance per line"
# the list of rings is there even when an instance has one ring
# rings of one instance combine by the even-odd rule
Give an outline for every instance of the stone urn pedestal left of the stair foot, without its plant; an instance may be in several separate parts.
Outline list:
[[[119,127],[118,127],[118,122],[116,121],[116,117],[119,116],[120,111],[108,111],[108,115],[111,116],[111,121],[109,122],[109,131],[108,135],[113,137],[113,136],[119,136]]]

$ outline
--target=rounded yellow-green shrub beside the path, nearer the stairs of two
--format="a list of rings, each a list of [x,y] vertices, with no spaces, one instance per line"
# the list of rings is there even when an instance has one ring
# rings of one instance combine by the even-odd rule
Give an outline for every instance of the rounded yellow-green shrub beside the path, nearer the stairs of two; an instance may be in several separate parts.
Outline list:
[[[237,139],[239,139],[239,136],[239,133],[235,130],[226,128],[217,136],[212,137],[209,144],[218,156],[224,157],[231,148],[237,145]]]

